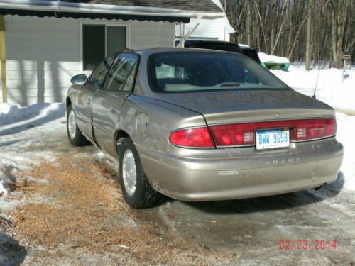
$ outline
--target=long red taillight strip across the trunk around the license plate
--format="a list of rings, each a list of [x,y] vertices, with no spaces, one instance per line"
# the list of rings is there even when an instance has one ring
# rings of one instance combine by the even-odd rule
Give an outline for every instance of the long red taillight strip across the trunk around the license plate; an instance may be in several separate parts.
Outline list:
[[[327,138],[337,133],[335,119],[268,121],[211,126],[217,146],[254,145],[258,129],[290,128],[291,141]]]

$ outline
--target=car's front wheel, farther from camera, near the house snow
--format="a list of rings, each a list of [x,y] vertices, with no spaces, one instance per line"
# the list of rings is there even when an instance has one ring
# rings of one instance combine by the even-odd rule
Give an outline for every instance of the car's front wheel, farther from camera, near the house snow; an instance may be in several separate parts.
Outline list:
[[[88,143],[87,138],[82,135],[82,131],[80,131],[80,129],[77,127],[72,104],[67,106],[67,138],[69,139],[69,142],[74,146],[84,146]]]

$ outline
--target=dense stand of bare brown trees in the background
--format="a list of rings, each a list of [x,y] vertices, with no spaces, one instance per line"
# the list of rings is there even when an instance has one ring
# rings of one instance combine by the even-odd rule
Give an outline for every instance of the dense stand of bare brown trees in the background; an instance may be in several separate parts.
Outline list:
[[[237,31],[231,41],[307,68],[311,60],[341,67],[344,51],[355,57],[354,0],[226,0],[226,14]]]

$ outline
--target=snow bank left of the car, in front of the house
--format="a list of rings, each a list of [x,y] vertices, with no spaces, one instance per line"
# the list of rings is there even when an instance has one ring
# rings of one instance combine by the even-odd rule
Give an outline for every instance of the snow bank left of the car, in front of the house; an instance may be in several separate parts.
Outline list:
[[[28,107],[0,103],[0,195],[6,196],[16,182],[16,173],[43,160],[53,152],[23,148],[35,145],[55,131],[62,131],[65,104],[34,104]],[[1,199],[1,197],[0,197]],[[1,202],[2,204],[6,204]]]

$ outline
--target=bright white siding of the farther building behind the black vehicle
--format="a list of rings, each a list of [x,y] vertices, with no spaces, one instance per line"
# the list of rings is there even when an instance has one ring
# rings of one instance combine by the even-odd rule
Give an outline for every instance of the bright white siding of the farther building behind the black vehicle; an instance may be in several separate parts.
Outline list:
[[[192,18],[190,23],[185,24],[185,34],[195,26],[197,19]],[[175,36],[179,36],[180,28],[175,27]],[[200,25],[190,36],[191,39],[206,39],[206,40],[225,40],[229,41],[229,34],[225,29],[224,18],[217,19],[202,19]]]

